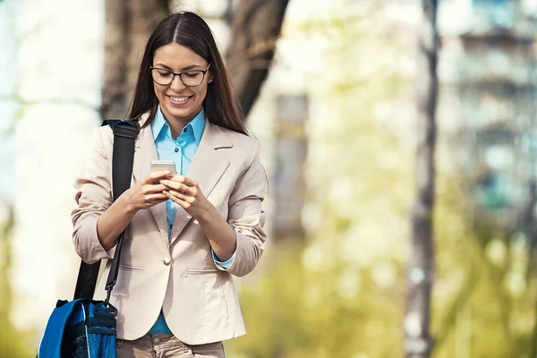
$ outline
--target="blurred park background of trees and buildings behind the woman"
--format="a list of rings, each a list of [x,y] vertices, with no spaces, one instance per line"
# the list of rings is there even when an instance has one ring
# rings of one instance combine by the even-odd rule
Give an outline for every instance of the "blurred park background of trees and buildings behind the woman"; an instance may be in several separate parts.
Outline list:
[[[88,133],[179,10],[269,176],[230,358],[537,357],[536,0],[0,0],[0,357],[72,297]]]

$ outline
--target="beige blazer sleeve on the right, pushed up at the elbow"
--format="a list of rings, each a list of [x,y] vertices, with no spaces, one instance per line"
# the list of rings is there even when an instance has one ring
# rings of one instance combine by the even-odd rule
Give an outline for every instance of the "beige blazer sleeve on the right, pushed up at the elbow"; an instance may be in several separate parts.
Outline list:
[[[250,164],[238,178],[229,198],[227,222],[234,229],[237,243],[231,267],[220,269],[234,276],[243,277],[250,273],[264,250],[266,217],[261,203],[265,192],[265,172],[261,166],[259,142],[255,141]]]

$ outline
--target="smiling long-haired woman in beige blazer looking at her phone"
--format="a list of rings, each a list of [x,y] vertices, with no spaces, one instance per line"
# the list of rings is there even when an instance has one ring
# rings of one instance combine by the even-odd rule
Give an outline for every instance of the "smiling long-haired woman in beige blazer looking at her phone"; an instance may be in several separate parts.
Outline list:
[[[76,251],[89,263],[112,259],[128,226],[110,300],[119,311],[118,357],[225,357],[221,342],[245,334],[232,277],[250,273],[263,251],[266,181],[259,144],[246,135],[198,15],[176,13],[158,24],[131,118],[141,124],[132,186],[115,202],[113,134],[108,126],[94,132],[75,185]],[[151,172],[156,159],[173,160],[177,174]],[[96,299],[104,298],[104,281]]]

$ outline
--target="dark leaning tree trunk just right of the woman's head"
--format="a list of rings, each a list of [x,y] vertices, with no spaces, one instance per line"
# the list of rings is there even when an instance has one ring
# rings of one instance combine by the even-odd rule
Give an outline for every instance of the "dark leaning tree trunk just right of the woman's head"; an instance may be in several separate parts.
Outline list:
[[[234,13],[226,64],[244,115],[267,78],[288,2],[243,0]]]

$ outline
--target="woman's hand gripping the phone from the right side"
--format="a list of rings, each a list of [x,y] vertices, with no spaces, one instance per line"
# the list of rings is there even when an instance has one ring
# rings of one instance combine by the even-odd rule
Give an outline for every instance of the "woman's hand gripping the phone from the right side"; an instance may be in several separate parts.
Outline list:
[[[161,180],[160,183],[167,188],[164,195],[174,200],[192,217],[198,217],[212,207],[210,201],[201,192],[200,185],[192,178],[175,175],[169,180]]]

